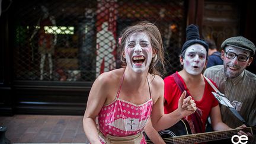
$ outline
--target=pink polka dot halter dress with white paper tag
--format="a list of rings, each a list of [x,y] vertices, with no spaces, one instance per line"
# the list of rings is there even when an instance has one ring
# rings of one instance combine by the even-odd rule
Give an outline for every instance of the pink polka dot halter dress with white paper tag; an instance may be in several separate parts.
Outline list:
[[[124,78],[124,76],[123,76]],[[123,84],[123,78],[121,84]],[[146,121],[151,115],[153,101],[150,99],[143,104],[133,104],[119,98],[121,85],[116,99],[101,108],[98,114],[98,126],[104,136],[131,136],[142,132]],[[149,87],[149,94],[150,87]],[[101,142],[103,140],[101,139]],[[140,143],[146,143],[143,137]]]

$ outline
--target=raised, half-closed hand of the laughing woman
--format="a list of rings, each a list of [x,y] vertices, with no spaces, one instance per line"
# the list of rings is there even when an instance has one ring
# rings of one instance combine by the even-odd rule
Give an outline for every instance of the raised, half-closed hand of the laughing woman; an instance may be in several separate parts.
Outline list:
[[[196,103],[194,103],[194,100],[192,100],[192,97],[188,96],[187,98],[185,98],[186,94],[187,92],[183,91],[180,99],[178,100],[178,110],[180,111],[180,114],[183,117],[189,116],[190,114],[193,114],[197,110]]]

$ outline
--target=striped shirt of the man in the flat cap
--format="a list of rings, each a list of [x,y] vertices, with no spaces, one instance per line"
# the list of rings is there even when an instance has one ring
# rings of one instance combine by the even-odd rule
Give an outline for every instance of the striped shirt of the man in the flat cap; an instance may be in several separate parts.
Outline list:
[[[219,91],[238,108],[238,113],[250,126],[256,124],[256,75],[247,70],[233,79],[227,79],[224,73],[224,66],[217,65],[207,68],[204,76],[212,79]],[[238,102],[238,103],[236,103]],[[239,110],[239,102],[242,106]],[[243,124],[236,116],[224,105],[221,106],[222,120],[229,127],[235,128]]]

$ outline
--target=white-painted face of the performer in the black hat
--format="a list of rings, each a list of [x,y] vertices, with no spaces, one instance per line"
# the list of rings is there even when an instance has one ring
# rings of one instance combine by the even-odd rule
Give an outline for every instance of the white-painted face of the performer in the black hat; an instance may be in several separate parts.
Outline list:
[[[185,50],[184,69],[191,75],[200,75],[206,63],[206,49],[201,44],[193,44]]]

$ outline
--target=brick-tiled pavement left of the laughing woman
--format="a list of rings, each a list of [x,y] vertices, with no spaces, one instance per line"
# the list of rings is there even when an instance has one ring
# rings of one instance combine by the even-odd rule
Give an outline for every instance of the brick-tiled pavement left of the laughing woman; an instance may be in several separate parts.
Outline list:
[[[15,115],[0,117],[11,143],[88,143],[82,116]]]

